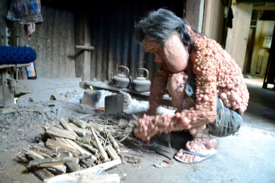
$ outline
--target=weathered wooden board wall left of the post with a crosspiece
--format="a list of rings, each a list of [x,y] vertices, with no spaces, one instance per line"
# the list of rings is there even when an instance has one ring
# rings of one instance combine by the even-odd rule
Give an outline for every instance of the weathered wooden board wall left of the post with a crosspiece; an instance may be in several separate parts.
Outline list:
[[[68,9],[42,6],[44,22],[36,25],[30,41],[24,37],[23,25],[13,22],[13,35],[20,35],[19,46],[29,44],[37,53],[37,77],[49,79],[75,77],[75,17]],[[13,41],[13,45],[15,45]]]

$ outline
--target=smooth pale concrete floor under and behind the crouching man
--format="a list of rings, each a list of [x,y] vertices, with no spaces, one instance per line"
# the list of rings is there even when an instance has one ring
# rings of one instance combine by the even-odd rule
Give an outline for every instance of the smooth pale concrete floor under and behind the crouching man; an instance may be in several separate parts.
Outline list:
[[[198,164],[175,161],[168,168],[156,168],[153,164],[167,158],[141,154],[138,166],[122,164],[109,171],[124,175],[122,182],[275,182],[275,92],[262,89],[262,80],[246,83],[250,101],[243,125],[235,136],[216,138],[217,156]],[[172,134],[173,149],[184,147],[180,133]]]

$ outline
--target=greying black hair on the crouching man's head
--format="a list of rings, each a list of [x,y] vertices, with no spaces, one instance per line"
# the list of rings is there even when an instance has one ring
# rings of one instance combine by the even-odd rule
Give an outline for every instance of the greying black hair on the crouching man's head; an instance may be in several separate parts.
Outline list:
[[[177,32],[182,43],[188,47],[188,52],[191,53],[194,45],[193,39],[188,34],[185,25],[189,25],[192,28],[186,19],[176,16],[172,11],[160,8],[157,11],[149,12],[146,17],[135,23],[133,38],[137,43],[155,40],[163,46],[167,37],[171,33]],[[197,31],[193,31],[197,33]]]

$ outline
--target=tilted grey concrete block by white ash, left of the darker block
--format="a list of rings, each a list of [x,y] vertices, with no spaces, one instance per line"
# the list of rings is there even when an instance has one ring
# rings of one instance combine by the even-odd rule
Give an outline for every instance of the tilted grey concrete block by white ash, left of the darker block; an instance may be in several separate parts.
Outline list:
[[[99,109],[101,92],[87,88],[83,94],[81,104],[86,104],[94,109]]]

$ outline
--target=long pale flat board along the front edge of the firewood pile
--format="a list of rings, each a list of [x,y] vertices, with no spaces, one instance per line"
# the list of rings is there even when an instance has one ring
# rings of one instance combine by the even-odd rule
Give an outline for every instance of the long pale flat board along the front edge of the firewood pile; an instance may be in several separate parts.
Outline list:
[[[56,175],[54,177],[51,178],[46,178],[44,179],[44,183],[57,183],[57,182],[72,182],[72,183],[76,183],[79,179],[82,178],[82,176],[87,176],[87,175],[93,175],[95,174],[95,172],[99,172],[99,171],[105,171],[105,170],[109,170],[110,168],[113,168],[117,165],[121,164],[121,160],[112,160],[110,162],[106,162],[106,163],[102,163],[96,166],[92,166],[91,168],[85,168],[83,170],[79,170],[76,172],[71,172],[68,174],[62,174],[62,175]],[[91,179],[90,179],[91,182]]]

